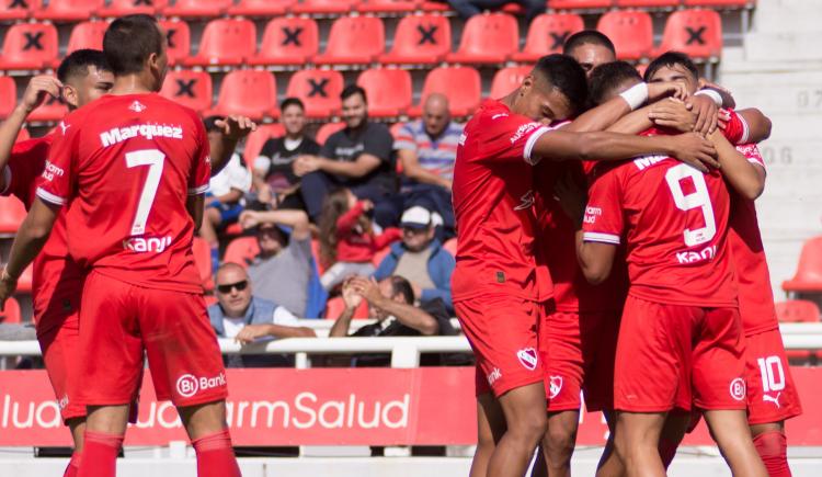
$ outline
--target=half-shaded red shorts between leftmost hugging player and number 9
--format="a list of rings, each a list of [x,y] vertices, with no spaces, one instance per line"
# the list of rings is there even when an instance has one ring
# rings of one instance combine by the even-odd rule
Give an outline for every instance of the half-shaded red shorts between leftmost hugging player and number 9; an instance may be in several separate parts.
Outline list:
[[[539,334],[548,411],[613,409],[619,311],[555,311]]]

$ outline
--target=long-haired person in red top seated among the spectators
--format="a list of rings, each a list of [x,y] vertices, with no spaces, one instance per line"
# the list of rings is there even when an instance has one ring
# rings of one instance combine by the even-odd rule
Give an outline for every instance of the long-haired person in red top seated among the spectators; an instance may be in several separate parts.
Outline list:
[[[397,228],[374,232],[368,217],[373,208],[372,201],[358,201],[349,189],[338,189],[326,196],[320,216],[320,259],[328,266],[320,283],[326,291],[351,275],[374,273],[374,254],[400,239]]]

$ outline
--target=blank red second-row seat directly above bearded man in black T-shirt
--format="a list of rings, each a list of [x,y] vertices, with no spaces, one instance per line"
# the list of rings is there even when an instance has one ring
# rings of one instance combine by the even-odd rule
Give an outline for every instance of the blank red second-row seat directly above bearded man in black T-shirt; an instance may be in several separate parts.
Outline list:
[[[386,31],[375,16],[341,16],[331,25],[326,52],[315,57],[318,65],[369,64],[383,54]]]

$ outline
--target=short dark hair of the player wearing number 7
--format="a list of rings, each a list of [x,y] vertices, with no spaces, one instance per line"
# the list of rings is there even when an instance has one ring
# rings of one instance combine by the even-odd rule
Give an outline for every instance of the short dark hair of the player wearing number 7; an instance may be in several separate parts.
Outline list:
[[[162,52],[164,41],[153,16],[126,15],[109,25],[103,53],[115,76],[129,75],[142,71],[148,57]]]

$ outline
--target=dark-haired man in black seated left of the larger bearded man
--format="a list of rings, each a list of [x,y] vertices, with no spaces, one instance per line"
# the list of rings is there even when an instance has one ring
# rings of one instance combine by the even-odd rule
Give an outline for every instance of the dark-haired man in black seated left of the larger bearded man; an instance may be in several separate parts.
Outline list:
[[[302,101],[286,98],[279,111],[285,136],[266,140],[254,160],[254,189],[258,200],[267,206],[265,208],[305,211],[293,162],[299,156],[316,156],[320,152],[320,145],[305,134],[306,107]]]

